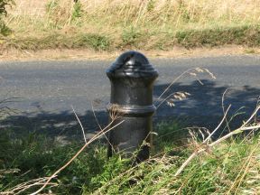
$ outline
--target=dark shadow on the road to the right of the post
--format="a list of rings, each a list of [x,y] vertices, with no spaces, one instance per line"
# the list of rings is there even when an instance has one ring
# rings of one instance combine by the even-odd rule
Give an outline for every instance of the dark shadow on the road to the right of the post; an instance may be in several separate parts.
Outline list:
[[[163,97],[166,98],[173,92],[185,91],[190,93],[190,97],[175,101],[175,107],[169,107],[164,103],[157,110],[158,118],[185,118],[188,125],[199,125],[212,129],[218,125],[223,117],[223,106],[228,111],[228,118],[236,116],[230,123],[231,127],[235,128],[240,125],[246,117],[250,116],[254,111],[257,99],[260,96],[260,88],[252,88],[243,86],[240,88],[228,88],[227,86],[219,86],[216,82],[204,79],[193,81],[191,84],[183,85],[176,83],[171,90],[167,91]],[[154,96],[159,97],[168,84],[155,86]]]

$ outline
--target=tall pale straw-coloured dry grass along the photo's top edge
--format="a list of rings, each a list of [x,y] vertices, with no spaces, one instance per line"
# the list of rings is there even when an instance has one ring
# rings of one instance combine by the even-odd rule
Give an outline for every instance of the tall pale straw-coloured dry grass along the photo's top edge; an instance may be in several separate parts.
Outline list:
[[[51,1],[53,0],[16,0],[12,14],[40,16],[45,14],[46,4]],[[167,19],[170,21],[181,23],[181,14],[186,14],[189,17],[186,18],[187,20],[196,20],[200,23],[208,23],[209,19],[225,20],[227,23],[234,20],[239,22],[259,22],[260,20],[258,0],[81,0],[80,3],[88,14],[106,16],[112,14],[110,16],[114,16],[116,21],[120,18],[127,19],[127,16],[128,19],[133,19],[135,16],[135,22],[142,18],[159,22],[165,19],[165,15],[168,15]],[[60,0],[59,5],[70,9],[73,1]],[[158,17],[159,15],[163,17]]]

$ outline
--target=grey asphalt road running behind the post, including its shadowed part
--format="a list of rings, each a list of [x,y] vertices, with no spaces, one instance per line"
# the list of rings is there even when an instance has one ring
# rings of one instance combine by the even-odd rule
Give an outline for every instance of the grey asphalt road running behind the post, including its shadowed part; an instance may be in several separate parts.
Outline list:
[[[159,71],[154,86],[154,99],[185,70],[195,67],[209,69],[217,79],[199,74],[200,85],[193,76],[179,79],[168,91],[186,91],[190,98],[177,101],[175,107],[163,104],[156,121],[169,118],[186,119],[189,125],[213,128],[223,115],[221,98],[228,89],[224,105],[232,104],[229,116],[243,107],[242,116],[248,116],[260,96],[260,56],[226,56],[216,58],[150,60]],[[106,124],[106,105],[109,102],[110,83],[106,70],[112,61],[35,61],[0,62],[0,97],[19,98],[0,104],[19,110],[3,124],[30,131],[77,131],[79,125],[72,113],[74,107],[85,129],[98,129],[91,102],[102,125]],[[167,94],[165,94],[167,97]],[[238,116],[239,118],[239,116]],[[237,119],[237,123],[239,123]],[[72,129],[71,127],[76,127]],[[76,129],[76,130],[75,130]],[[71,132],[70,132],[71,133]]]

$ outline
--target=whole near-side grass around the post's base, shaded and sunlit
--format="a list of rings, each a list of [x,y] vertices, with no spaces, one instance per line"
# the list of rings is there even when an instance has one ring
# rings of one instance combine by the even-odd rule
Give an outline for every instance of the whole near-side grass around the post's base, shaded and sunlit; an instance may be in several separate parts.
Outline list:
[[[175,177],[196,149],[187,131],[176,122],[155,127],[152,158],[132,167],[130,159],[107,159],[107,145],[89,145],[58,177],[55,194],[252,194],[260,188],[259,135],[231,138],[200,154]],[[0,136],[0,191],[24,181],[51,176],[78,152],[83,143],[59,145],[43,135]],[[194,140],[193,140],[194,141]],[[200,144],[200,140],[196,140]],[[15,169],[16,172],[8,173]],[[17,170],[19,170],[17,172]],[[3,173],[4,172],[4,173]],[[7,172],[7,173],[6,173]],[[26,190],[26,193],[39,186]]]

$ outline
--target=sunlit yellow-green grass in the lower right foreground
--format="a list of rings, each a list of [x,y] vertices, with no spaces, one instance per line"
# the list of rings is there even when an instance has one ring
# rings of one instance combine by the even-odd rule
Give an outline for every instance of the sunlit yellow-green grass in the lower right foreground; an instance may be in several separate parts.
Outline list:
[[[96,190],[97,194],[224,194],[243,193],[245,190],[259,192],[259,160],[247,161],[248,155],[259,141],[241,141],[223,144],[207,155],[198,157],[185,169],[181,176],[174,173],[181,162],[188,157],[188,151],[179,156],[165,156],[141,164],[132,172],[117,176]],[[186,153],[185,153],[186,152]],[[258,152],[259,154],[259,152]],[[254,153],[255,158],[257,152]],[[245,167],[249,164],[249,168]],[[242,178],[243,174],[245,177]],[[242,180],[239,183],[240,179]],[[130,180],[135,184],[129,185]],[[255,183],[254,183],[255,182]],[[239,185],[238,185],[239,184]]]

